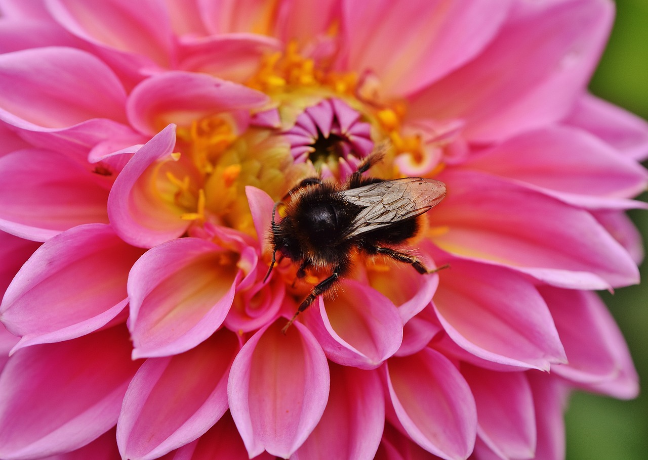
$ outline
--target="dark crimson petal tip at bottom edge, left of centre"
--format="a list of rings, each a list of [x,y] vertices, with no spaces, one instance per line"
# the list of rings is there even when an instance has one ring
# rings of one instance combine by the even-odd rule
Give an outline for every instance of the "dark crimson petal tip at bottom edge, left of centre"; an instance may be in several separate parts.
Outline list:
[[[179,448],[172,457],[163,458],[165,460],[247,460],[248,452],[228,412],[197,441]],[[263,452],[254,458],[275,460],[277,457]]]

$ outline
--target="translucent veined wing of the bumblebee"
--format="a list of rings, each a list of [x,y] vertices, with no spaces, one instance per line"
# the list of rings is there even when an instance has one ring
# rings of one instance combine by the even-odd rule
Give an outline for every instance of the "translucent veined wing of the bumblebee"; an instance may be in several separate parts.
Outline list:
[[[422,177],[404,177],[344,190],[341,195],[347,202],[364,208],[354,219],[347,237],[424,214],[445,193],[443,182]]]

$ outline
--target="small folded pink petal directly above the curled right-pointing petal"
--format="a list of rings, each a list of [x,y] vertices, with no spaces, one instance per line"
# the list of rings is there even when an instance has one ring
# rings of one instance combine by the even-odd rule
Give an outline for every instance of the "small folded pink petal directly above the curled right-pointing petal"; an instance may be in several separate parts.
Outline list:
[[[259,70],[259,61],[264,55],[279,49],[279,41],[270,37],[252,34],[212,36],[183,44],[179,69],[244,83]]]

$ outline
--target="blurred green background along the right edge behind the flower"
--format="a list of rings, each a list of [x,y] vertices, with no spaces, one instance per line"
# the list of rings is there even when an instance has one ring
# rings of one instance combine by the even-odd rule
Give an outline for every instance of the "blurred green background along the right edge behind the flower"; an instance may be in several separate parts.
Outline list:
[[[590,89],[648,119],[648,0],[616,5],[610,43]],[[647,243],[648,212],[630,214]],[[648,263],[641,271],[642,285],[603,298],[630,346],[642,393],[631,401],[575,393],[566,415],[567,460],[648,460]]]

